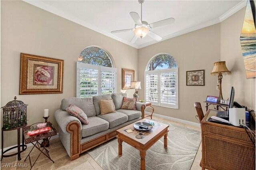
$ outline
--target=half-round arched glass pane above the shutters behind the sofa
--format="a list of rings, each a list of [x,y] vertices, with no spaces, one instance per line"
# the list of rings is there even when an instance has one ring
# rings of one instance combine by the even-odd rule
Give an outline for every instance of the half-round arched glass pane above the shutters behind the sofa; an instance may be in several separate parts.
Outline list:
[[[80,53],[78,61],[87,64],[113,67],[108,53],[99,47],[86,47]]]

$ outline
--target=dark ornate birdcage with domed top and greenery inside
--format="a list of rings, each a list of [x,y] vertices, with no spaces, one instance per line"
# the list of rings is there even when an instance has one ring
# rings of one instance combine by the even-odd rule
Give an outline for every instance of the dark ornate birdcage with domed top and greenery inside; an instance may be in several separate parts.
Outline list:
[[[2,130],[14,130],[27,125],[27,105],[16,100],[8,102],[3,109]]]

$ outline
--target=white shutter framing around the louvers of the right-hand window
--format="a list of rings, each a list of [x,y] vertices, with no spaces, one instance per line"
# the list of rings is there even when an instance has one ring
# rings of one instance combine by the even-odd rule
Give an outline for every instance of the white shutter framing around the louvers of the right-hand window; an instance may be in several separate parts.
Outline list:
[[[150,60],[151,61],[151,60]],[[148,67],[148,65],[147,65]],[[152,74],[158,74],[158,91],[161,90],[161,81],[160,81],[160,75],[161,73],[172,73],[175,72],[175,92],[176,92],[176,104],[166,104],[166,103],[161,103],[161,93],[158,92],[158,102],[152,102],[152,101],[147,101],[146,100],[146,75],[147,73],[152,73]],[[168,107],[172,109],[179,109],[178,101],[179,101],[179,93],[178,93],[178,67],[172,68],[172,69],[160,69],[160,70],[151,70],[151,71],[145,71],[144,72],[144,99],[146,102],[151,102],[152,105],[155,106],[160,106],[160,107]]]

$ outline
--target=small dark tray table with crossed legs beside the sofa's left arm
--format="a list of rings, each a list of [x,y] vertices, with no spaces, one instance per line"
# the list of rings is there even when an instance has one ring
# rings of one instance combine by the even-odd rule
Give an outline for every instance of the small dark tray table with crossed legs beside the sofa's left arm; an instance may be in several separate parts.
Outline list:
[[[50,138],[52,137],[52,136],[54,136],[54,135],[56,135],[57,134],[57,129],[52,125],[52,123],[50,123],[50,122],[47,122],[47,125],[46,125],[46,127],[50,127],[51,128],[51,130],[49,131],[49,132],[45,132],[45,133],[42,133],[42,134],[38,134],[38,135],[36,135],[36,136],[28,136],[27,135],[27,132],[28,131],[32,131],[32,130],[36,130],[36,125],[37,123],[34,123],[33,125],[30,125],[30,126],[27,126],[27,127],[24,127],[24,138],[25,138],[25,144],[28,144],[28,143],[32,143],[34,146],[33,146],[33,148],[30,150],[30,152],[28,153],[28,156],[26,157],[26,159],[27,158],[29,158],[29,162],[30,162],[30,170],[32,169],[32,167],[34,166],[34,164],[36,163],[36,161],[38,160],[38,158],[39,158],[39,156],[41,155],[41,154],[44,154],[48,159],[50,159],[53,163],[54,163],[54,161],[50,158],[50,155],[49,155],[49,150],[47,150],[46,149],[46,145],[48,144],[48,142],[49,142],[49,140],[50,140]],[[35,127],[34,127],[35,126]],[[40,143],[38,142],[39,140],[44,140],[44,139],[46,139],[46,138],[49,138],[48,140],[47,140],[47,143],[44,145],[44,147],[42,148],[42,150],[40,149]],[[33,142],[36,142],[36,143],[33,143]],[[36,158],[36,160],[35,160],[35,162],[33,163],[33,165],[31,164],[31,160],[30,160],[30,153],[32,152],[32,150],[34,149],[34,148],[37,148],[38,150],[40,150],[40,154],[38,155],[38,157]],[[46,151],[46,154],[43,152],[43,151]],[[26,161],[26,159],[24,160],[24,161]]]

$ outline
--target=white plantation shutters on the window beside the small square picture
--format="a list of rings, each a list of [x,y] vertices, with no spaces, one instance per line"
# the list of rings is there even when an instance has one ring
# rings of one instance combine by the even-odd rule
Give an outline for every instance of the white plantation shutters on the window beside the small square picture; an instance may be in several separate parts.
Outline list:
[[[178,68],[145,71],[145,99],[152,105],[178,109]]]

